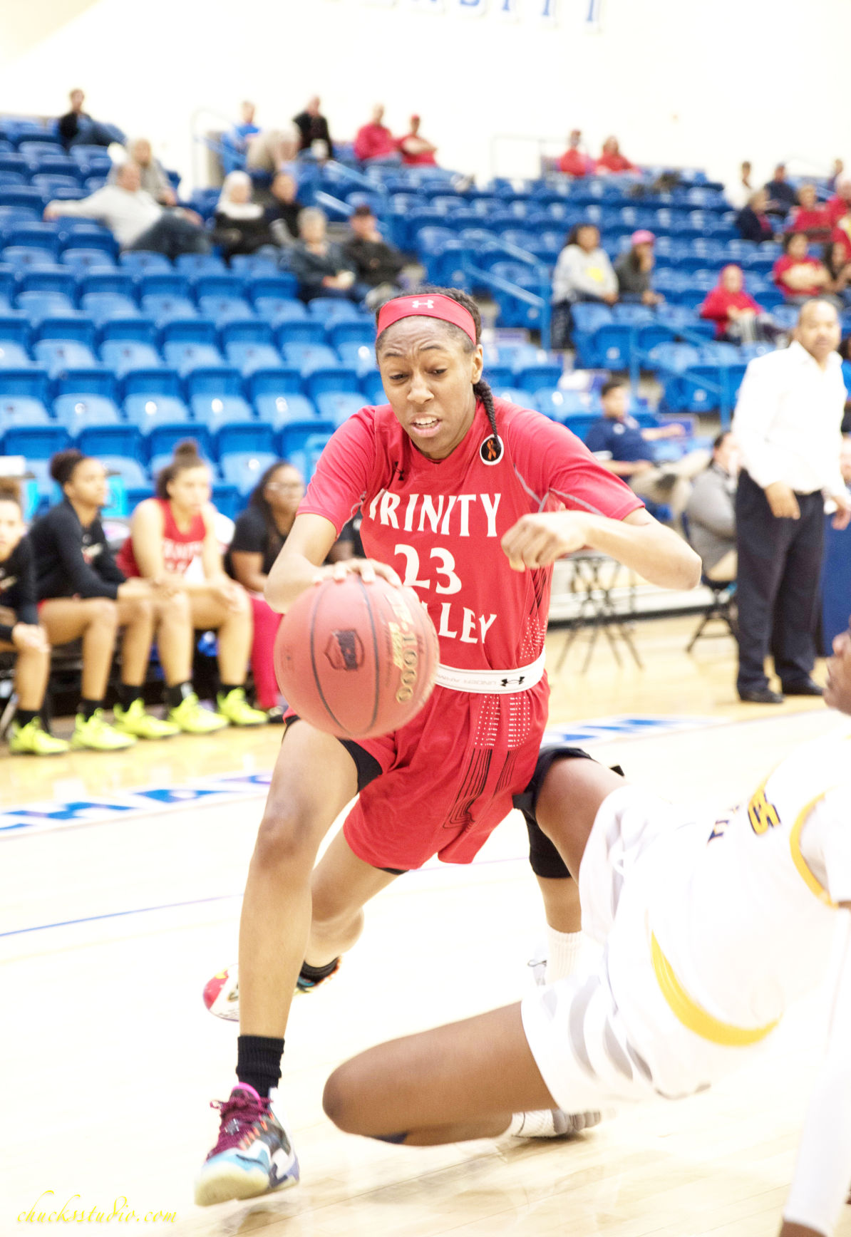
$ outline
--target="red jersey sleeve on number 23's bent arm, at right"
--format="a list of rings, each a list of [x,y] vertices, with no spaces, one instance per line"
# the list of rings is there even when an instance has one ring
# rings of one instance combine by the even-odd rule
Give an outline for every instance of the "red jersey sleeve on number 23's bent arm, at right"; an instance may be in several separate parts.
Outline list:
[[[511,455],[515,468],[545,510],[548,495],[570,511],[588,511],[623,520],[644,503],[626,481],[594,459],[588,447],[564,426],[537,412],[512,422]]]

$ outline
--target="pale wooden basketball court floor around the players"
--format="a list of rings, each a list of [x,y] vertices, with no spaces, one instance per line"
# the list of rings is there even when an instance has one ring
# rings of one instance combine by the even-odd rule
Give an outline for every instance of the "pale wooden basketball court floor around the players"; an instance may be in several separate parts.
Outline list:
[[[600,644],[583,675],[580,640],[553,683],[550,721],[631,778],[712,810],[837,719],[818,700],[741,705],[731,641],[686,657],[693,626],[641,625],[643,670],[618,668]],[[549,637],[553,663],[563,640]],[[820,1001],[794,1009],[746,1075],[568,1143],[398,1148],[324,1118],[323,1082],[340,1060],[528,991],[543,915],[513,816],[470,867],[433,863],[385,891],[340,975],[297,998],[283,1089],[302,1184],[195,1209],[193,1176],[216,1129],[208,1101],[230,1090],[236,1034],[209,1017],[200,990],[235,956],[263,789],[244,779],[230,797],[179,795],[204,778],[268,771],[280,737],[270,727],[119,756],[0,756],[0,1237],[26,1232],[33,1205],[37,1216],[66,1200],[66,1213],[94,1209],[93,1222],[132,1209],[137,1232],[187,1237],[777,1232],[823,1042]],[[66,821],[45,810],[146,787],[169,787],[177,802]],[[35,824],[4,829],[27,805],[41,811]],[[851,1237],[851,1207],[837,1232]]]

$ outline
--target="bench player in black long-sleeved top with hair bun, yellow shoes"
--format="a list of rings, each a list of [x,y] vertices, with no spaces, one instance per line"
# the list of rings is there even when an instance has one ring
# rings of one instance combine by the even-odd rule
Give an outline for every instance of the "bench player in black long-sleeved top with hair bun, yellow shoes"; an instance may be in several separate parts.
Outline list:
[[[167,580],[129,580],[109,548],[100,510],[108,499],[106,470],[100,460],[78,450],[59,452],[51,476],[62,487],[62,502],[32,526],[41,621],[52,644],[83,641],[82,698],[72,747],[114,751],[136,738],[167,738],[197,729],[192,710],[166,721],[145,709],[142,687],[156,636],[168,703],[190,694],[192,627],[189,610]],[[103,706],[118,630],[121,640],[121,682],[115,722]]]

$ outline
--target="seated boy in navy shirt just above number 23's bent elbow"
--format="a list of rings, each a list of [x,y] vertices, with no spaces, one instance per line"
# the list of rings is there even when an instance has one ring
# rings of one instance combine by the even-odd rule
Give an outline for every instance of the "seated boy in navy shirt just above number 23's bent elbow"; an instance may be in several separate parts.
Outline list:
[[[622,476],[637,495],[670,507],[678,521],[691,494],[691,479],[709,464],[709,452],[689,452],[679,460],[657,464],[652,443],[663,438],[682,438],[678,422],[642,429],[630,416],[626,382],[612,379],[600,392],[602,417],[585,435],[585,445],[616,476]]]

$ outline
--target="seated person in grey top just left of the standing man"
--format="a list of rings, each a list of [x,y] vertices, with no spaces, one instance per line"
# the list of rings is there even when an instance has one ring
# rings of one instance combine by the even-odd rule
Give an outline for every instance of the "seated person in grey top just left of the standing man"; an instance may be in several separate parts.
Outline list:
[[[689,541],[710,580],[735,580],[738,445],[729,429],[712,443],[709,468],[698,473],[685,507]]]

